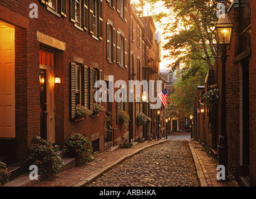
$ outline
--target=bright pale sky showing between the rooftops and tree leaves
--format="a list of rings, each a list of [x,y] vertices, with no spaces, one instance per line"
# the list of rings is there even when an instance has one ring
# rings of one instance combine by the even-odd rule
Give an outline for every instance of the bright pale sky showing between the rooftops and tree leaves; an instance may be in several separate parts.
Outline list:
[[[132,4],[133,2],[135,3],[138,3],[140,2],[141,0],[130,0],[130,3]],[[143,9],[143,15],[144,16],[152,16],[153,14],[157,14],[158,12],[162,11],[162,9],[164,9],[164,7],[162,7],[162,2],[159,2],[158,5],[156,7],[156,9],[152,10],[150,9],[150,5],[147,4],[147,0],[144,0],[144,9]],[[159,8],[160,7],[160,8]],[[161,41],[162,41],[162,46],[163,44],[166,42],[164,40],[164,35],[162,35],[162,32],[163,30],[161,29],[160,25],[155,22],[155,27],[157,28],[156,32],[159,31],[160,32],[160,38],[161,38]],[[164,55],[167,55],[168,54],[168,51],[167,50],[161,50],[161,55],[162,55],[162,58],[161,58],[161,62],[160,62],[160,70],[162,69],[165,69],[166,66],[171,62],[171,60],[167,60],[167,59],[164,59],[163,56]]]

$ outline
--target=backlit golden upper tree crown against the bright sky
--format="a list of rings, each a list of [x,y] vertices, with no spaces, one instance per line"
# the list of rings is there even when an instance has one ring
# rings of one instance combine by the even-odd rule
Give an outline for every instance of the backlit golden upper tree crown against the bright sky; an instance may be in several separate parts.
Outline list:
[[[149,0],[152,7],[161,0]],[[165,0],[165,12],[154,15],[164,29],[167,40],[164,49],[175,62],[172,69],[181,63],[187,65],[191,60],[202,60],[213,69],[216,58],[214,24],[217,22],[218,0]]]

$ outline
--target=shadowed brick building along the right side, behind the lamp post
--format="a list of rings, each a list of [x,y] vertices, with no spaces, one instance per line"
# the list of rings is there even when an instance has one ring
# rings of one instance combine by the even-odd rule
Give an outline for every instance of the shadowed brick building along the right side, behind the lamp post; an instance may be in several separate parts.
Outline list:
[[[226,133],[228,149],[228,172],[234,174],[240,185],[256,185],[255,155],[255,1],[234,1],[228,14],[234,24],[232,43],[227,51],[226,63]],[[221,52],[219,52],[221,55]],[[210,108],[204,107],[204,138],[200,142],[217,154],[220,136],[222,63],[217,60],[214,75],[207,76],[205,93],[219,89],[219,102]],[[209,73],[210,74],[210,73]],[[196,111],[195,111],[196,112]],[[194,113],[196,114],[196,113]],[[194,117],[195,118],[195,117]],[[195,123],[195,121],[194,121]],[[193,135],[199,134],[193,129]]]

